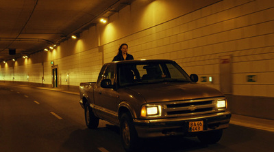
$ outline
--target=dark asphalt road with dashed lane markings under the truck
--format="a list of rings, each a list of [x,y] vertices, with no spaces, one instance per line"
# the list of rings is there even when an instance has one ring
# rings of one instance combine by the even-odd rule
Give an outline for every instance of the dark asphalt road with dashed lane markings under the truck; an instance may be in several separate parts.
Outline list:
[[[123,152],[119,127],[100,120],[87,129],[79,95],[0,84],[0,151]],[[274,151],[274,132],[230,124],[214,145],[197,138],[145,140],[143,151]]]

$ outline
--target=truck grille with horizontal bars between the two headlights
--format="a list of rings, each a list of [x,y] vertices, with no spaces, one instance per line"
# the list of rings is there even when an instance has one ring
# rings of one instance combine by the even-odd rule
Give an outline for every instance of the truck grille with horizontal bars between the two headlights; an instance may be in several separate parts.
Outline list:
[[[163,105],[162,114],[165,117],[175,117],[214,112],[216,111],[216,101],[218,99],[167,102]]]

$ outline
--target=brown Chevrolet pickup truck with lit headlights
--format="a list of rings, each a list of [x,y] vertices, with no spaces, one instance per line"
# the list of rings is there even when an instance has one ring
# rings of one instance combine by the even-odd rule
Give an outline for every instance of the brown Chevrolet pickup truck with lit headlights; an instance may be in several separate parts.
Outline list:
[[[218,142],[229,125],[227,100],[197,83],[175,61],[129,60],[105,63],[97,82],[82,82],[80,100],[88,128],[99,119],[120,127],[125,151],[136,151],[142,138],[197,136]]]

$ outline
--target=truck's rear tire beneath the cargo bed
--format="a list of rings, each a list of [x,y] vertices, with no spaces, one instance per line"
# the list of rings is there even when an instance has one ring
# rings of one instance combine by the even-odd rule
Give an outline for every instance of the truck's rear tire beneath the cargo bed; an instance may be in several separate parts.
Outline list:
[[[90,129],[96,129],[99,125],[99,118],[93,114],[88,102],[85,104],[85,121],[86,126]]]

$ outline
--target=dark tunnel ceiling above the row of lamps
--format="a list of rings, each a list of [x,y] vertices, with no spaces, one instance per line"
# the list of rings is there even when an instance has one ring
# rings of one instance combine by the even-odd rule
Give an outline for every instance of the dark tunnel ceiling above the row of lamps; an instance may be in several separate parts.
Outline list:
[[[134,0],[0,0],[0,61],[30,55],[119,12]],[[16,49],[16,55],[9,50]]]

